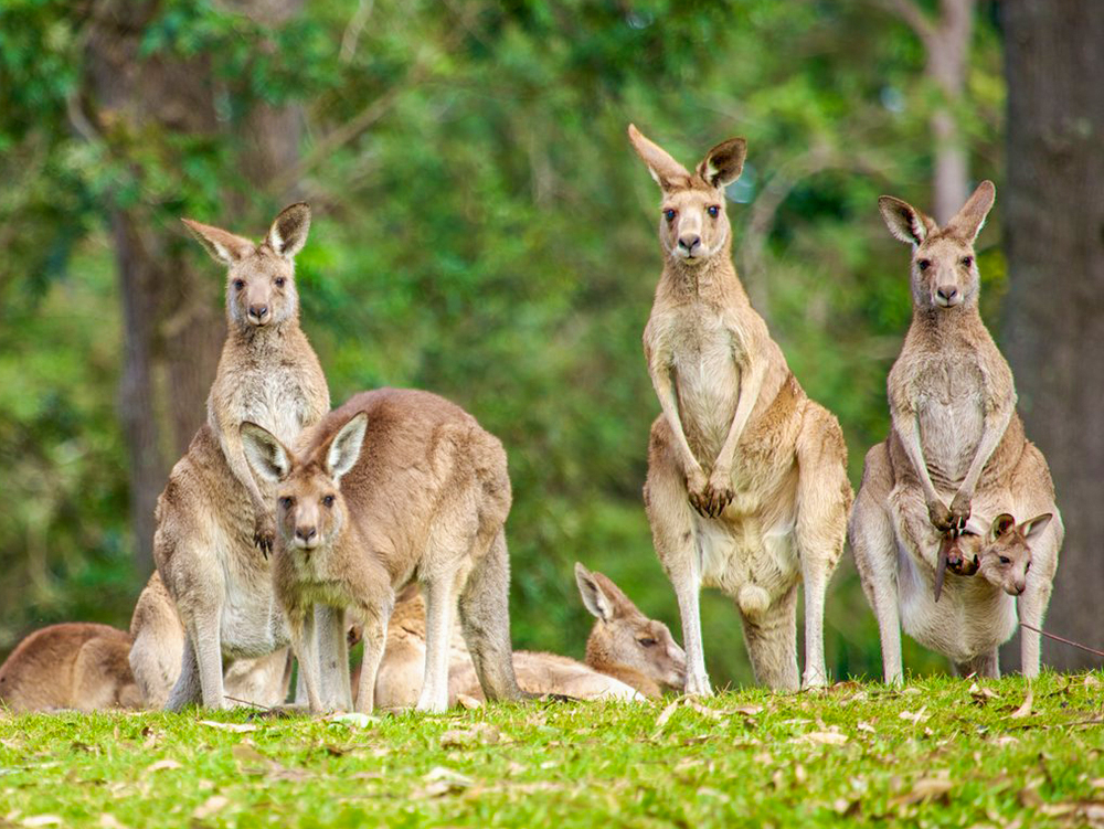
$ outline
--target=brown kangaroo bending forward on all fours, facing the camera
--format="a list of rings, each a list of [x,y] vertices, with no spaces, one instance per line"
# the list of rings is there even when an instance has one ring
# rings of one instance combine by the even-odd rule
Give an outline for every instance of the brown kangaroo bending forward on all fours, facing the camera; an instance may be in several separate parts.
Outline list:
[[[338,608],[337,624],[321,639],[338,642],[326,667],[343,674],[346,705],[351,689],[344,609],[358,617],[364,660],[357,709],[369,711],[394,588],[412,580],[427,592],[425,679],[417,709],[447,708],[457,599],[484,691],[491,699],[522,697],[510,659],[503,524],[511,491],[498,438],[443,397],[401,389],[355,395],[304,435],[298,451],[256,424],[243,424],[242,437],[253,468],[277,490],[275,591],[293,650],[306,666],[311,711],[320,711],[322,701],[308,603]]]

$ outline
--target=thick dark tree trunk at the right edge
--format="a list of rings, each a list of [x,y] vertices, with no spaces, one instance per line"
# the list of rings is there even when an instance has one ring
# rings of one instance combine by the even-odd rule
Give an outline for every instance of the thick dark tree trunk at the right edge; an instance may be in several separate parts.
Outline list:
[[[1065,545],[1047,628],[1104,648],[1104,2],[1005,0],[1006,352]],[[1019,518],[1019,517],[1018,517]],[[1027,518],[1027,517],[1025,517]],[[1098,663],[1044,641],[1047,662]]]

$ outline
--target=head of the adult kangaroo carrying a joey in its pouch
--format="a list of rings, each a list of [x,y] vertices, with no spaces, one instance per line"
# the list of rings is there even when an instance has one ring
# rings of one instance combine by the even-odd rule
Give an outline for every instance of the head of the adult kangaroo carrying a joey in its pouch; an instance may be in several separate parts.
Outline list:
[[[974,242],[996,192],[991,181],[983,181],[946,227],[900,199],[883,195],[878,200],[890,233],[912,245],[912,301],[917,309],[977,305],[980,277]]]

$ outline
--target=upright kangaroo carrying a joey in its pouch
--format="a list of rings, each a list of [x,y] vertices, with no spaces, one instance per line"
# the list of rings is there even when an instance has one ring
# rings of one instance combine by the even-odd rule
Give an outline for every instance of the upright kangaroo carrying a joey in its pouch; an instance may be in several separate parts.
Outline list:
[[[1016,630],[1008,594],[1041,628],[1058,568],[1064,530],[1050,471],[1025,436],[1012,372],[977,307],[974,242],[995,194],[981,182],[943,228],[899,199],[878,200],[890,233],[912,245],[913,316],[889,374],[890,436],[867,454],[848,535],[878,617],[887,682],[903,679],[902,623],[959,671],[998,676],[997,647]],[[1009,536],[1008,522],[992,520],[999,513],[1036,518]],[[972,514],[974,532],[991,522],[990,545],[1022,542],[1030,554],[983,557],[981,578],[951,578],[936,603],[941,540],[967,530]],[[1033,677],[1039,635],[1025,629],[1021,646]]]

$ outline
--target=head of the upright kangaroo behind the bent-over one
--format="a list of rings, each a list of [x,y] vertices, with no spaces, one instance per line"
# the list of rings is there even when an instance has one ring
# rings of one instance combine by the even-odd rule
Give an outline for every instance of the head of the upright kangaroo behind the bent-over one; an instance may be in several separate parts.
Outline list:
[[[300,202],[280,211],[261,244],[190,219],[183,222],[206,252],[227,267],[226,315],[232,327],[261,328],[298,317],[295,255],[307,242],[309,206]]]

